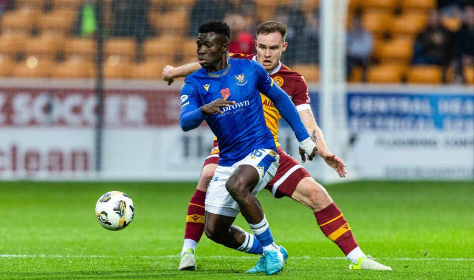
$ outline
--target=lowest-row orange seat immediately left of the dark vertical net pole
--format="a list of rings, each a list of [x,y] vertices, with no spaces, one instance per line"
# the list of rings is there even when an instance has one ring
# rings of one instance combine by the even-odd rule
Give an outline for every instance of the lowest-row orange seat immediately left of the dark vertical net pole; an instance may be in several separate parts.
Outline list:
[[[95,65],[92,61],[71,58],[53,66],[51,77],[60,79],[94,78]]]

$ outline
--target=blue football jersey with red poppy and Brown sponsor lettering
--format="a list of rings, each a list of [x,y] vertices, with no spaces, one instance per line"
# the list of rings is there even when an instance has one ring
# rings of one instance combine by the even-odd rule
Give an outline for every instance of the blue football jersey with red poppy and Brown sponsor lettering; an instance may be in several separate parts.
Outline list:
[[[273,80],[265,68],[249,59],[229,58],[227,67],[219,72],[207,73],[202,68],[186,77],[181,90],[182,111],[226,95],[228,100],[235,101],[234,105],[221,108],[222,114],[204,117],[219,139],[219,165],[231,166],[256,149],[276,151],[259,94],[265,86],[273,86]]]

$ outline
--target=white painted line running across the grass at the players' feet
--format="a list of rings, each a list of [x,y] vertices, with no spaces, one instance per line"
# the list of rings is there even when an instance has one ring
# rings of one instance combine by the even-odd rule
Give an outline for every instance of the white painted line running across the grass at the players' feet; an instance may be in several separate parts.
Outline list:
[[[146,258],[146,259],[157,259],[157,258],[178,258],[179,255],[167,255],[167,256],[123,256],[126,258]],[[0,254],[0,258],[116,258],[116,256],[107,255],[28,255],[28,254]],[[254,259],[255,256],[198,256],[203,259]],[[344,257],[310,257],[310,256],[297,256],[290,257],[291,259],[320,259],[320,260],[346,260]],[[474,261],[474,258],[377,258],[383,260],[413,260],[413,261]]]

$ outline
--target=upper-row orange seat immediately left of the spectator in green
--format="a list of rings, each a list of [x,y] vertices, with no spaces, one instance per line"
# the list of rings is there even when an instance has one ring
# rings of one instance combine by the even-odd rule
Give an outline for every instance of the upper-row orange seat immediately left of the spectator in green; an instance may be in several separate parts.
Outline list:
[[[52,34],[66,35],[71,31],[73,22],[76,20],[76,11],[59,10],[41,15],[39,31]]]

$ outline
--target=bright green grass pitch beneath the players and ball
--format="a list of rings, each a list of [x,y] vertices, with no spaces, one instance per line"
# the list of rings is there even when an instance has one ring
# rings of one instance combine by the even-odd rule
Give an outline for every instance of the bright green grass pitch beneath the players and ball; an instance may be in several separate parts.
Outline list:
[[[274,276],[247,275],[258,257],[203,236],[197,270],[178,271],[195,183],[2,182],[0,278],[473,279],[474,182],[351,182],[327,190],[362,250],[393,271],[348,270],[348,260],[288,198],[259,194],[277,243],[289,252]],[[132,224],[100,227],[95,202],[110,190],[134,200]],[[240,216],[236,224],[249,231]]]

